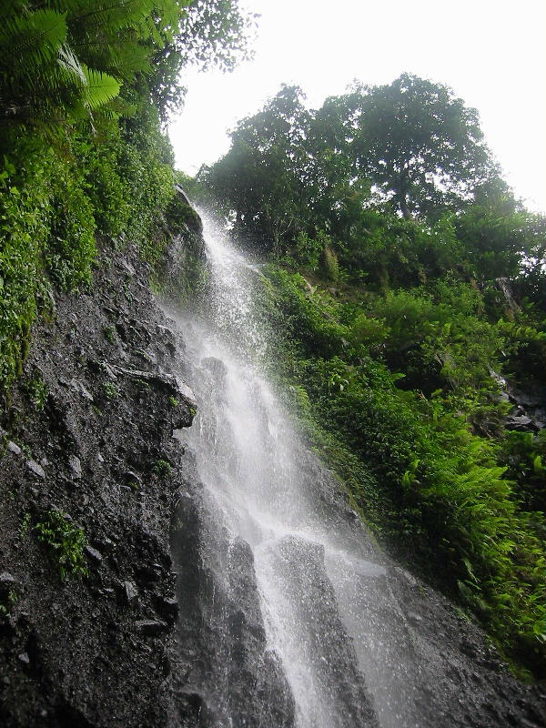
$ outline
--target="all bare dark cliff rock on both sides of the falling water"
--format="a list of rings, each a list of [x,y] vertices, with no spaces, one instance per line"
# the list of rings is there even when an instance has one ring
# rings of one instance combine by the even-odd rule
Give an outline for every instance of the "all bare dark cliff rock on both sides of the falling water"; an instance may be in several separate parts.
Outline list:
[[[178,229],[185,232],[162,272],[171,293],[197,285],[203,259],[198,218]],[[179,326],[151,293],[151,274],[136,249],[105,245],[93,288],[58,294],[35,327],[1,422],[6,728],[288,728],[296,720],[266,638],[252,550],[212,517],[194,456],[177,437],[196,414],[184,377],[195,381],[200,401],[215,390],[222,399],[226,368],[218,359],[191,363],[192,332],[185,355]],[[310,451],[299,460],[321,512],[337,514],[335,531],[349,529],[359,541],[361,525],[337,481]],[[296,573],[308,645],[320,642],[329,655],[320,662],[326,693],[341,685],[339,720],[375,724],[369,685],[350,677],[354,648],[339,623],[324,550],[313,546],[304,558],[303,543],[279,541],[276,569],[288,590],[288,563]],[[396,658],[379,693],[396,692],[399,675],[424,685],[410,701],[422,703],[421,726],[543,725],[541,691],[510,675],[476,625],[371,542],[369,550],[385,566],[360,574],[348,599],[366,615],[369,642]],[[359,590],[367,580],[371,591]],[[320,622],[309,618],[314,609]],[[330,663],[345,665],[343,674]],[[385,672],[382,657],[378,664]],[[343,717],[348,705],[356,723]],[[224,715],[236,722],[222,723]]]

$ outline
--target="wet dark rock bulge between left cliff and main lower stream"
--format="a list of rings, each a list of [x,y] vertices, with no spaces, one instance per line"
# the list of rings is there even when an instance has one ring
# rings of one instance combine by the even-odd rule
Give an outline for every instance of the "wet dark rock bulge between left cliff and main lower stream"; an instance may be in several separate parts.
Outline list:
[[[187,476],[172,540],[180,604],[177,724],[292,728],[294,700],[268,650],[252,551],[218,530],[195,470]]]

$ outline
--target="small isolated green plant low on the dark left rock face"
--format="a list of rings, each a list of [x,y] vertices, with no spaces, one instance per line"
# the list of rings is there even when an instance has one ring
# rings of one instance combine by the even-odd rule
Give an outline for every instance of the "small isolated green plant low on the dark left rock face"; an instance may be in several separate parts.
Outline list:
[[[34,531],[37,540],[45,544],[55,561],[61,581],[70,576],[87,576],[86,534],[66,513],[47,511],[44,520],[35,524]]]

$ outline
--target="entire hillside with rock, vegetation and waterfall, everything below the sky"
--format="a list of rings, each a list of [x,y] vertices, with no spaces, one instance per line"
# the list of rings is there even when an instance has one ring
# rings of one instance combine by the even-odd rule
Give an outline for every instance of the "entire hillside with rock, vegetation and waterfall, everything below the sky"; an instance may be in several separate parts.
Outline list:
[[[0,723],[543,724],[546,224],[475,110],[283,86],[193,178],[237,0],[0,18]]]

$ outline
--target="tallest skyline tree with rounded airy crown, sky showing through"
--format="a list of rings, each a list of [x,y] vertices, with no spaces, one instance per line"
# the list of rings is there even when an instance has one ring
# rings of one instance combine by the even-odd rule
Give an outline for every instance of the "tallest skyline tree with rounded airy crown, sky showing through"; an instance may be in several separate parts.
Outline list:
[[[388,86],[356,86],[345,102],[359,176],[404,217],[460,205],[497,173],[478,112],[448,86],[403,74]]]

